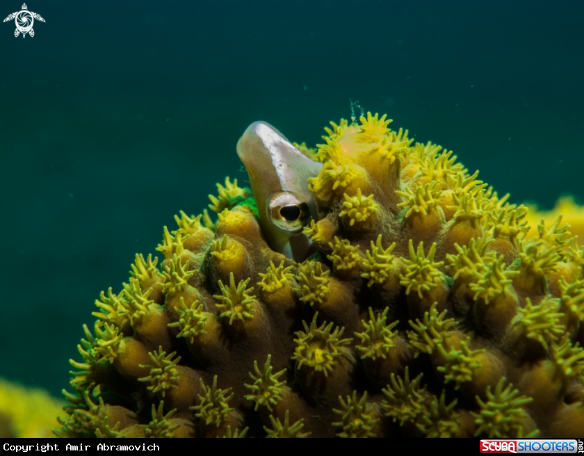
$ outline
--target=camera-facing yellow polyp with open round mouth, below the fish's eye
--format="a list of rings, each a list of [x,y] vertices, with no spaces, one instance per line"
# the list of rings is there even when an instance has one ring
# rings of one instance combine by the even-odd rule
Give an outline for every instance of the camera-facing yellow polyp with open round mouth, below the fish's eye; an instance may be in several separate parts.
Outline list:
[[[310,326],[305,321],[302,325],[305,332],[298,331],[294,339],[296,348],[292,359],[296,360],[296,366],[309,366],[317,372],[323,372],[325,375],[332,372],[336,365],[336,359],[348,355],[345,345],[348,345],[352,339],[341,339],[345,328],[336,327],[331,332],[333,323],[328,325],[324,322],[320,327],[316,326],[318,312],[314,315]]]

